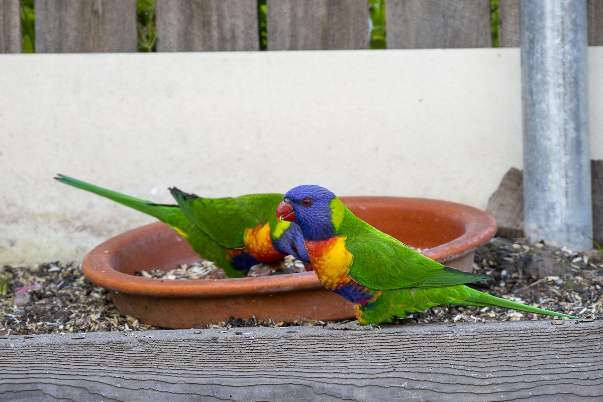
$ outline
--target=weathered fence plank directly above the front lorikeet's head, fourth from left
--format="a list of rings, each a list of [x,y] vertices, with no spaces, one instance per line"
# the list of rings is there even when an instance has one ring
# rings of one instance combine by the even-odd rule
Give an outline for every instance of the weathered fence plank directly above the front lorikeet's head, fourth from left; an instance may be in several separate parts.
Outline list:
[[[366,0],[267,0],[268,50],[368,49]]]

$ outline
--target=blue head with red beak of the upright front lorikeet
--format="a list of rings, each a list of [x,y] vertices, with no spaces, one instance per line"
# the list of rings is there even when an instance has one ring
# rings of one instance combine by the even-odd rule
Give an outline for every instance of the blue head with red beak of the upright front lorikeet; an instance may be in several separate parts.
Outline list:
[[[285,194],[276,209],[277,219],[297,222],[306,240],[330,239],[335,235],[331,201],[335,194],[324,187],[306,184]]]

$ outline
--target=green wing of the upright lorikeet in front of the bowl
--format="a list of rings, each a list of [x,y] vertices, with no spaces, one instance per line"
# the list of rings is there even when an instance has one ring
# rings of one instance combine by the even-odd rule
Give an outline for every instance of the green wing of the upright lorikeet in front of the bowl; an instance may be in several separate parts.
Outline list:
[[[443,287],[489,279],[446,267],[346,211],[341,229],[352,253],[350,277],[370,289]]]

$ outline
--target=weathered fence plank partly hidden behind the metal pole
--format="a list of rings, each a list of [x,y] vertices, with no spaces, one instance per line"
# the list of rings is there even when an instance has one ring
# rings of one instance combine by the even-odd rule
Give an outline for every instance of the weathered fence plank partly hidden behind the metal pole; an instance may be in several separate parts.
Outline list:
[[[603,45],[603,1],[588,0],[589,46]],[[519,47],[519,0],[499,0],[498,34],[501,48]]]

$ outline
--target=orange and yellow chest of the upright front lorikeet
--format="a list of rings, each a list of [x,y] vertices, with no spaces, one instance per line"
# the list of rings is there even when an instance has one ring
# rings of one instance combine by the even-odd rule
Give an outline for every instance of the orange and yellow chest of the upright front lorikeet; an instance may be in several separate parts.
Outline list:
[[[306,251],[318,279],[327,289],[336,289],[350,281],[353,256],[346,248],[346,237],[331,237],[318,242],[306,241]]]

